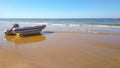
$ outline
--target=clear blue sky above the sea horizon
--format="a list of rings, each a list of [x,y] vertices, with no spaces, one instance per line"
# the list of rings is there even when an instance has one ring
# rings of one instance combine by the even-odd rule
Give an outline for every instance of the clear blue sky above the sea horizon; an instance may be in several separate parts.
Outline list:
[[[0,0],[0,18],[120,18],[120,0]]]

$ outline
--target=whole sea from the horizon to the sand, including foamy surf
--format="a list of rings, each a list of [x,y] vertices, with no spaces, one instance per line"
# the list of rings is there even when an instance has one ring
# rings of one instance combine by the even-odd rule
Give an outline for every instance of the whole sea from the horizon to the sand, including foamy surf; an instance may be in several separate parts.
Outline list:
[[[0,19],[0,30],[46,24],[44,31],[120,34],[120,18]]]

